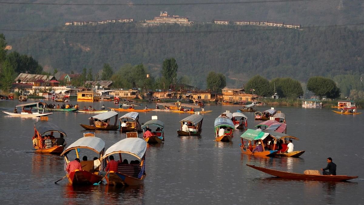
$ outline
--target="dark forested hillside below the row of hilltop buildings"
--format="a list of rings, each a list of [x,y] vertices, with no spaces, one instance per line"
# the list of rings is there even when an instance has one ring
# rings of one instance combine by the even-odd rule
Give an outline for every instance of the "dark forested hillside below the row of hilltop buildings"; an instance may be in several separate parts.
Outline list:
[[[8,44],[32,55],[48,71],[81,72],[91,67],[96,72],[103,63],[114,68],[144,63],[156,76],[163,59],[173,57],[179,76],[190,76],[191,83],[202,88],[211,70],[225,74],[227,83],[236,86],[256,74],[305,82],[311,76],[364,72],[364,31],[356,28],[295,30],[216,24],[145,27],[119,23],[55,29],[67,33],[36,33],[8,40]]]

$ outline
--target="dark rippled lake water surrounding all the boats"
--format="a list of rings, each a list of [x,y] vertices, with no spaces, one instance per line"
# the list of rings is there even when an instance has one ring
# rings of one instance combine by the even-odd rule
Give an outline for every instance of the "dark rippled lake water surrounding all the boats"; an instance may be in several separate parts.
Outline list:
[[[28,100],[32,102],[34,100]],[[116,107],[113,102],[76,102],[81,107]],[[9,108],[18,101],[2,101]],[[55,102],[55,104],[57,104]],[[149,107],[155,104],[146,103]],[[236,112],[238,105],[207,105],[203,114],[201,137],[178,136],[179,120],[188,114],[172,112],[140,113],[140,122],[158,115],[165,122],[165,142],[148,146],[146,179],[138,187],[107,185],[73,187],[62,178],[63,157],[36,154],[32,150],[34,123],[39,118],[20,118],[0,114],[0,195],[2,204],[363,204],[364,196],[364,114],[349,116],[331,112],[331,108],[304,109],[276,107],[285,113],[287,133],[299,138],[295,150],[306,150],[301,158],[254,157],[241,154],[241,131],[233,142],[214,141],[214,119],[225,112]],[[264,111],[270,107],[257,107]],[[360,111],[359,111],[360,112]],[[120,112],[119,117],[124,113]],[[248,128],[260,121],[249,117]],[[68,144],[83,136],[80,123],[87,124],[91,114],[55,112],[49,120],[66,132]],[[140,135],[140,134],[139,134]],[[96,131],[106,143],[105,149],[125,134]],[[332,157],[338,175],[359,175],[350,182],[291,181],[274,178],[246,164],[282,171],[303,173],[320,169]]]

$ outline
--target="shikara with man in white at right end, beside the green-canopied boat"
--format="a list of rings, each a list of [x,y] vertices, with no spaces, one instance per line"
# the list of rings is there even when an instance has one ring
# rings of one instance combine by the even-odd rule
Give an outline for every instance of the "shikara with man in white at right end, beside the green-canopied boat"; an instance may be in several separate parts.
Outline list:
[[[271,150],[278,150],[276,155],[299,157],[303,153],[305,153],[305,150],[286,152],[288,150],[288,147],[287,147],[287,144],[289,143],[288,140],[290,140],[290,139],[299,140],[298,138],[296,138],[292,135],[287,135],[287,134],[283,134],[283,133],[275,132],[275,131],[264,130],[263,132],[268,133],[272,138],[274,138],[274,142],[270,143],[268,146],[270,146]],[[281,143],[280,148],[278,148],[278,143]]]

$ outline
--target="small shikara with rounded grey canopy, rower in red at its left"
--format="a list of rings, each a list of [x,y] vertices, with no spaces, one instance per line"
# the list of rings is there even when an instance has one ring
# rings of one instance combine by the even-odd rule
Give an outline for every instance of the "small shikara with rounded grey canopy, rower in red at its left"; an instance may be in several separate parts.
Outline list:
[[[144,136],[144,132],[150,127],[160,128],[160,131],[151,131],[152,136]],[[152,120],[146,121],[142,126],[143,138],[149,144],[161,143],[164,141],[164,123],[158,120],[157,116],[152,116]]]

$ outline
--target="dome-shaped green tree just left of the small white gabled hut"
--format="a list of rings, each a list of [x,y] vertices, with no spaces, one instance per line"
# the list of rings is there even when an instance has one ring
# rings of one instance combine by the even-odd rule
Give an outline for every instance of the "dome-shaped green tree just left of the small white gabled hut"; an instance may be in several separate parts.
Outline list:
[[[250,78],[250,80],[245,84],[244,88],[248,92],[254,89],[255,91],[253,92],[255,92],[259,96],[267,97],[274,94],[273,89],[269,84],[269,81],[266,78],[259,75]]]

